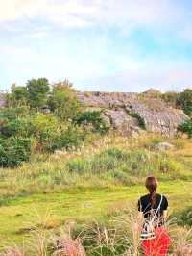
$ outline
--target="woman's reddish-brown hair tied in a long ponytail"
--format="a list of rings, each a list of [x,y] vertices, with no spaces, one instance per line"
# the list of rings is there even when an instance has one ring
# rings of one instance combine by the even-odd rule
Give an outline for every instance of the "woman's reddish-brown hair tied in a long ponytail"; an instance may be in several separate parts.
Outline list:
[[[153,208],[156,204],[156,188],[157,188],[157,185],[158,185],[158,182],[156,180],[156,177],[149,176],[149,177],[146,178],[145,187],[150,192],[151,208]]]

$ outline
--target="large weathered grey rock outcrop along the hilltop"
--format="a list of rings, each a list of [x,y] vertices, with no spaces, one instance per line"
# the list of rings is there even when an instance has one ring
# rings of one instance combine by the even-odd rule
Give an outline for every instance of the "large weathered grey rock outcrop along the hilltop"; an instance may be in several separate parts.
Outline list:
[[[149,95],[150,94],[150,95]],[[104,109],[104,118],[120,134],[140,133],[141,122],[146,131],[172,138],[180,123],[188,117],[173,109],[152,93],[129,92],[77,92],[85,107]]]

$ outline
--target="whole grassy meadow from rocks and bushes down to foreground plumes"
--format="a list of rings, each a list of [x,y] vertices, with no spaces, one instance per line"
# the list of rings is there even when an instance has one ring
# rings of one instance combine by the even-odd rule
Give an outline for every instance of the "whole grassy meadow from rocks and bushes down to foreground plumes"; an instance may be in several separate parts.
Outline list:
[[[161,141],[168,141],[174,147],[156,150],[156,144]],[[34,154],[22,166],[0,169],[1,250],[15,243],[19,246],[29,243],[39,230],[45,237],[58,234],[66,223],[76,223],[74,234],[77,235],[84,224],[108,226],[111,218],[125,214],[128,218],[128,210],[136,213],[137,200],[146,193],[143,183],[149,174],[156,175],[159,192],[169,199],[170,219],[175,219],[177,224],[174,227],[180,226],[180,232],[181,226],[190,228],[191,139],[167,140],[147,134],[130,139],[113,133],[95,135],[79,149]],[[115,254],[114,244],[113,251],[107,253],[101,246],[99,251],[90,250],[90,244],[86,243],[87,255],[120,255],[120,252]],[[125,244],[129,248],[133,246],[131,242]],[[41,238],[42,246],[45,244],[42,245]],[[48,251],[28,255],[50,255]]]

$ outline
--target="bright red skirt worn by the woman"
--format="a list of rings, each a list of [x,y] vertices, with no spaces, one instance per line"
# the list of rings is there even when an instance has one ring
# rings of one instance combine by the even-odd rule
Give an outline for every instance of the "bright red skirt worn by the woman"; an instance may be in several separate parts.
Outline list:
[[[166,229],[156,227],[155,236],[155,239],[142,241],[144,256],[166,256],[170,242]]]

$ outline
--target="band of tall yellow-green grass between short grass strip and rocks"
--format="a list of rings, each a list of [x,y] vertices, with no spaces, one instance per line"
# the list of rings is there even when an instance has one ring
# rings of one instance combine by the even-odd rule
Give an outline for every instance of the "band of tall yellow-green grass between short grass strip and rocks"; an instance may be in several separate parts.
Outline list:
[[[148,174],[161,180],[191,179],[191,142],[172,141],[175,149],[156,152],[162,138],[106,137],[76,151],[36,155],[16,169],[0,168],[0,204],[15,196],[74,187],[131,186]],[[185,146],[186,144],[186,146]],[[191,151],[192,152],[192,151]]]

